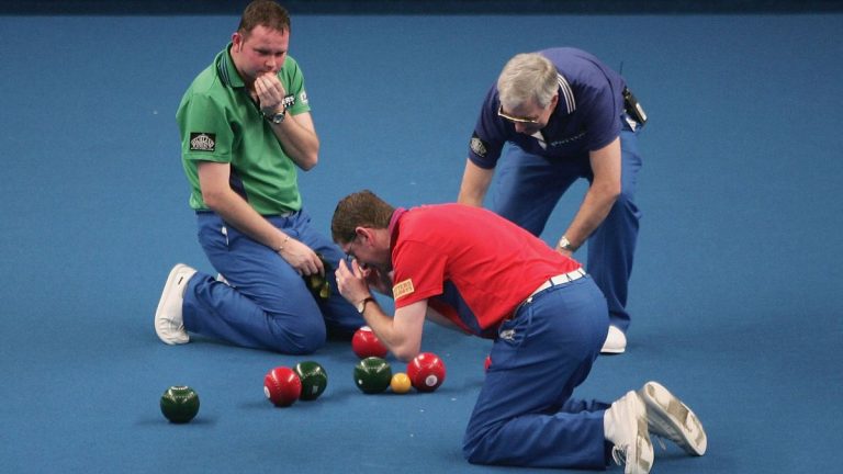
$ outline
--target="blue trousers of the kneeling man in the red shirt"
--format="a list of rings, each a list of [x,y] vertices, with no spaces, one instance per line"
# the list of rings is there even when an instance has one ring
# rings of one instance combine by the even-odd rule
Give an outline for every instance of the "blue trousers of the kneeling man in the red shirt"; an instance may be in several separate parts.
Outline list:
[[[605,469],[609,404],[571,398],[599,354],[606,300],[589,276],[552,286],[499,328],[463,440],[477,464]]]

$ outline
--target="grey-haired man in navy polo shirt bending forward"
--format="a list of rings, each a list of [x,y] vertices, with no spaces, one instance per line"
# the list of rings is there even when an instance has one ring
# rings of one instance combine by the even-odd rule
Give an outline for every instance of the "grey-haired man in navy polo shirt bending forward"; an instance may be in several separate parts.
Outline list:
[[[588,273],[609,308],[604,353],[626,350],[641,216],[633,196],[645,117],[627,95],[620,75],[581,49],[516,55],[486,94],[459,195],[460,203],[482,205],[497,169],[492,210],[538,236],[569,187],[588,180],[557,250],[571,256],[588,242]]]

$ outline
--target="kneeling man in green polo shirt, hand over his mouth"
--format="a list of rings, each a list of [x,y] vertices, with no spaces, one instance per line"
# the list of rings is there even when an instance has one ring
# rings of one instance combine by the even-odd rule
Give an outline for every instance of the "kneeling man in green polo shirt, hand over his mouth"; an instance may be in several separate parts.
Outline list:
[[[166,343],[189,332],[282,353],[318,349],[326,332],[363,321],[336,291],[314,296],[302,276],[342,252],[302,208],[296,167],[318,161],[304,77],[288,56],[290,16],[272,0],[243,13],[232,42],[193,80],[176,120],[199,240],[222,278],[170,271],[155,315]]]

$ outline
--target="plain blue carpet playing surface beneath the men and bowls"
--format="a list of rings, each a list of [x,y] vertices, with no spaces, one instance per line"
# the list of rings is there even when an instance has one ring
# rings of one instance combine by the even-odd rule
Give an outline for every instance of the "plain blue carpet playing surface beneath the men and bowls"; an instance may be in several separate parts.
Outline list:
[[[347,343],[293,358],[156,338],[169,268],[211,270],[176,108],[236,22],[0,16],[0,471],[525,472],[460,454],[482,340],[431,327],[442,388],[363,396]],[[688,402],[709,452],[668,447],[655,473],[832,472],[841,32],[841,14],[296,16],[291,54],[323,143],[301,176],[306,207],[327,233],[337,200],[362,188],[404,206],[453,201],[483,93],[515,53],[572,45],[622,65],[651,117],[633,325],[628,353],[600,358],[577,395],[610,400],[655,379]],[[270,406],[263,374],[304,359],[327,369],[325,395]],[[158,411],[173,384],[200,393],[189,425]]]

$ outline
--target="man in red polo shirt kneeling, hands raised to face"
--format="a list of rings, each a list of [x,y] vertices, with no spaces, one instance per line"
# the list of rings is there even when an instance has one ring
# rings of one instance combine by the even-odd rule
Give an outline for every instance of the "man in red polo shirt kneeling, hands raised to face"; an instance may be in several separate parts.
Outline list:
[[[648,473],[650,431],[693,454],[696,416],[648,382],[612,404],[571,397],[608,330],[606,300],[580,263],[490,211],[460,204],[394,208],[370,191],[342,199],[337,287],[402,360],[420,352],[425,318],[494,340],[463,440],[472,463]],[[383,313],[370,287],[395,298]],[[681,409],[679,409],[681,408]]]

